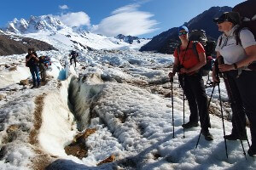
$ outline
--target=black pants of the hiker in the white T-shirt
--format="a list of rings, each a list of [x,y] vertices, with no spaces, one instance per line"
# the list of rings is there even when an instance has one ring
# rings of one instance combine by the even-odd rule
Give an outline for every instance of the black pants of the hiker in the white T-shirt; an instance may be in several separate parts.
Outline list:
[[[236,96],[237,114],[233,113],[233,129],[245,129],[245,114],[250,122],[252,150],[256,151],[256,71],[242,71],[237,77],[237,71],[227,71],[231,93]],[[245,114],[244,114],[245,113]],[[233,120],[234,119],[234,120]],[[239,125],[240,123],[240,125]]]

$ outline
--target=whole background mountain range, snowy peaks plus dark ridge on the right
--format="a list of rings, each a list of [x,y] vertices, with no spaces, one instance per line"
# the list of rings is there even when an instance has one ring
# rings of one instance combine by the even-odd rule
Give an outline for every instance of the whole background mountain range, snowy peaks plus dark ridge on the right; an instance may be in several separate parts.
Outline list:
[[[203,29],[207,32],[208,39],[216,40],[220,32],[212,19],[226,11],[231,11],[231,9],[230,7],[209,8],[184,23],[184,26],[188,26],[190,31]],[[38,36],[36,36],[37,34]],[[163,31],[151,40],[122,34],[116,37],[105,37],[90,31],[81,31],[76,27],[66,26],[52,15],[42,15],[31,16],[29,20],[15,18],[0,30],[0,47],[2,47],[0,55],[24,54],[28,47],[36,50],[56,50],[57,42],[53,43],[54,41],[62,41],[67,43],[65,44],[67,48],[78,50],[121,48],[123,46],[127,48],[136,44],[140,51],[154,51],[162,54],[172,54],[179,43],[177,27]],[[104,47],[101,47],[101,44]]]

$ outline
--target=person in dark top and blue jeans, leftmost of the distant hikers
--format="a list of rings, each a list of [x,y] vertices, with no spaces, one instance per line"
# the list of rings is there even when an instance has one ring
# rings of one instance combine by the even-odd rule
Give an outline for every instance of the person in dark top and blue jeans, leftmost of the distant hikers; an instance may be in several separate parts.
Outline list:
[[[36,54],[34,48],[27,49],[28,54],[26,55],[26,66],[29,67],[29,70],[32,74],[33,86],[32,88],[40,87],[40,77],[38,69],[38,54]]]

